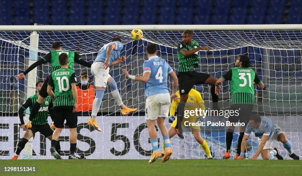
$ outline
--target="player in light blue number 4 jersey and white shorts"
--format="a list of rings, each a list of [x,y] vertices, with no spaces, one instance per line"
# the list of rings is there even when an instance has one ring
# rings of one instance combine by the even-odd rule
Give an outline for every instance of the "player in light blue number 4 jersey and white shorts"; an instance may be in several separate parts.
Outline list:
[[[172,77],[172,95],[171,98],[176,100],[178,79],[169,64],[162,58],[157,56],[156,44],[148,44],[146,54],[148,60],[143,65],[143,76],[129,75],[127,70],[123,73],[130,79],[145,83],[146,95],[146,120],[152,146],[152,155],[149,163],[153,163],[157,158],[161,157],[161,152],[158,149],[157,132],[155,130],[155,120],[158,128],[163,136],[166,149],[162,162],[169,160],[172,154],[172,147],[169,139],[168,130],[165,126],[165,118],[168,117],[170,109],[170,94],[167,87],[168,74]]]

